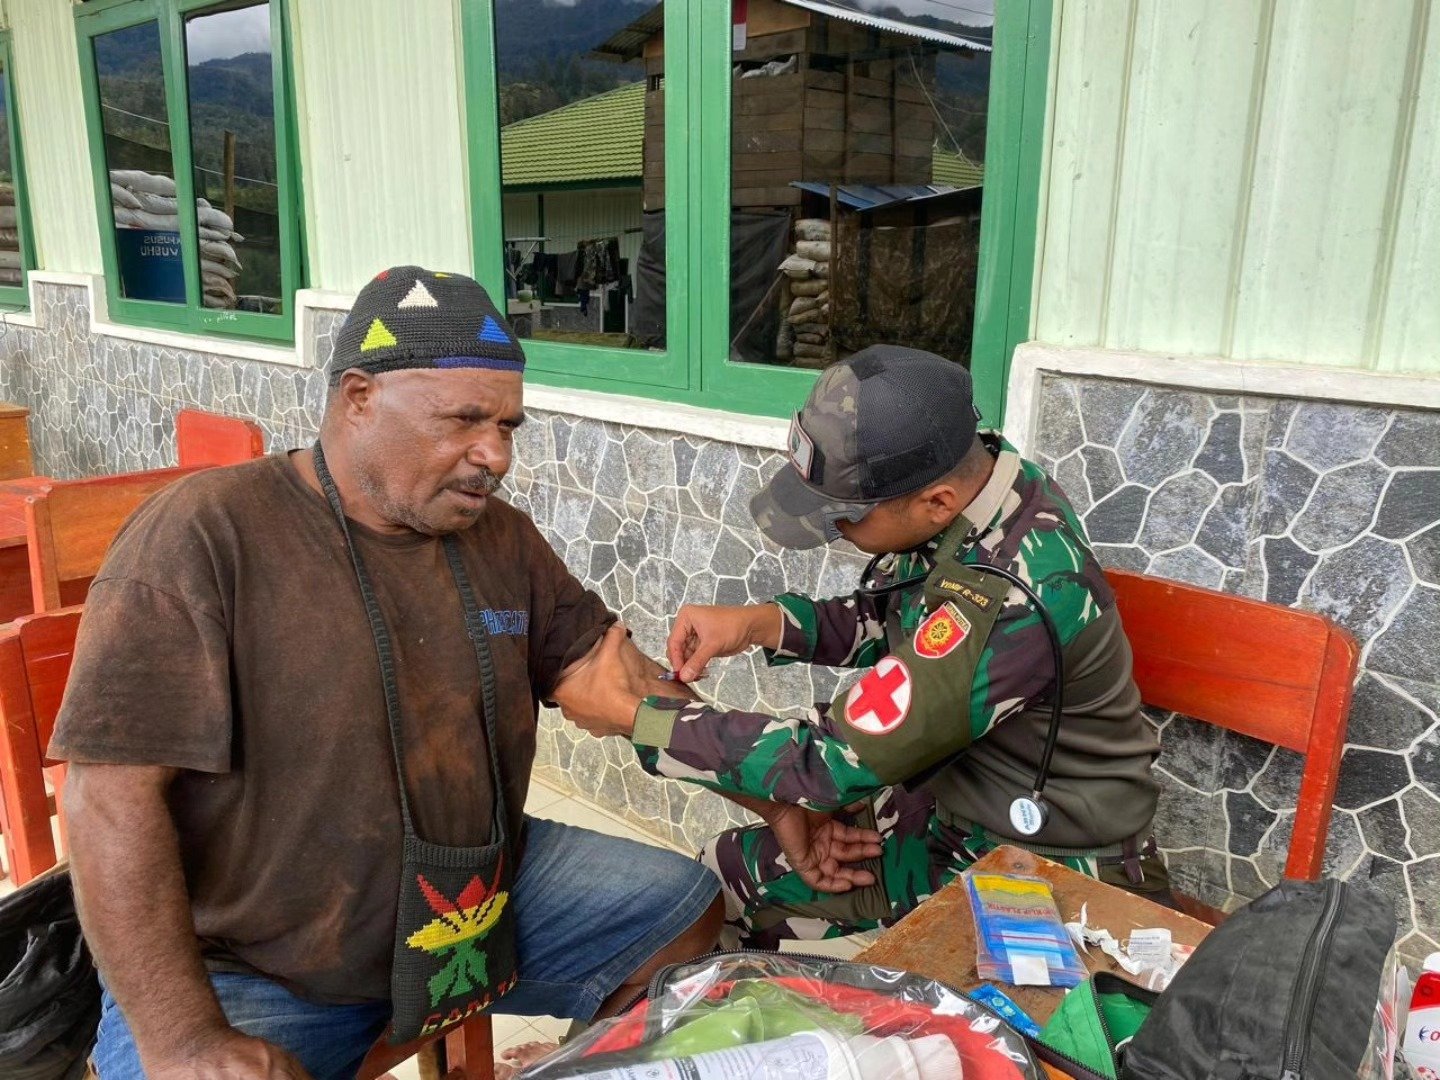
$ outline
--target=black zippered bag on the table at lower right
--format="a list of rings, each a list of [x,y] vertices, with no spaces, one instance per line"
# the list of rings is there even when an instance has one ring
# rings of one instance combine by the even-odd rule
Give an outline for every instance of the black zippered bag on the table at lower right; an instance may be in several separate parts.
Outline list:
[[[1385,1076],[1394,940],[1394,910],[1371,890],[1333,880],[1272,888],[1179,969],[1125,1048],[1123,1080]]]

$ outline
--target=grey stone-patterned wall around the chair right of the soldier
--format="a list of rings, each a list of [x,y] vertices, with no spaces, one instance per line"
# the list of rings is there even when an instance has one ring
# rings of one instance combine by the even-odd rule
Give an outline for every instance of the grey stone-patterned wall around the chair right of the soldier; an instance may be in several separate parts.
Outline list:
[[[1047,377],[1035,449],[1102,562],[1356,636],[1326,871],[1390,894],[1410,955],[1440,948],[1440,413]],[[1172,868],[1212,903],[1254,897],[1284,863],[1300,756],[1156,720]]]

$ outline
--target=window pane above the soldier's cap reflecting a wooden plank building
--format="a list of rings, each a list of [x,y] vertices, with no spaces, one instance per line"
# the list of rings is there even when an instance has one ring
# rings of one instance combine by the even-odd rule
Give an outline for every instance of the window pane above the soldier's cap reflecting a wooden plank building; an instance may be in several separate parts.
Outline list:
[[[994,0],[733,10],[732,357],[969,363]]]

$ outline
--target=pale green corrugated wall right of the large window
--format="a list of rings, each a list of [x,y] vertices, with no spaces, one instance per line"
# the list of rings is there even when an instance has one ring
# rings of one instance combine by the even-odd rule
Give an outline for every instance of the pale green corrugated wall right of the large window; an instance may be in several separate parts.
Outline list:
[[[1430,0],[1063,0],[1035,336],[1440,372]]]

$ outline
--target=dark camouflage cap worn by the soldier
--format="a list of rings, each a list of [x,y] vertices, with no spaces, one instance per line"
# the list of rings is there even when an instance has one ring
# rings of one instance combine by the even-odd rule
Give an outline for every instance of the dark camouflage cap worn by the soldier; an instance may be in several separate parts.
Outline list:
[[[837,521],[919,491],[960,464],[979,412],[971,373],[917,348],[870,346],[831,364],[791,420],[789,462],[750,500],[782,547],[819,547]]]

